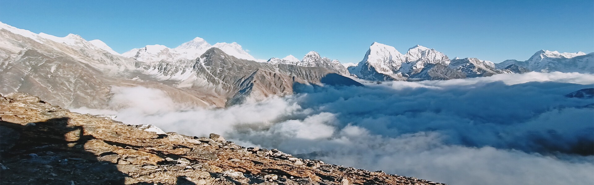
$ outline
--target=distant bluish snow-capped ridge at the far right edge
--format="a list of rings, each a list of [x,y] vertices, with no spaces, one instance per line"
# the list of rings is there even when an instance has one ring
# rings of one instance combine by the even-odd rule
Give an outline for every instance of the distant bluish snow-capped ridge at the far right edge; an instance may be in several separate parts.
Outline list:
[[[517,65],[537,72],[580,72],[591,74],[594,71],[594,53],[559,53],[557,51],[540,50],[526,61],[505,60],[497,63],[498,69]]]

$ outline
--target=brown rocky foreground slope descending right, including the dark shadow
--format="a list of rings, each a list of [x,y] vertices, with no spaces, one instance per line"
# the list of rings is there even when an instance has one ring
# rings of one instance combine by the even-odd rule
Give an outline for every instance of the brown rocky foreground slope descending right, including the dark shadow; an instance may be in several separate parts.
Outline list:
[[[441,184],[0,95],[0,184]],[[397,164],[394,164],[397,165]]]

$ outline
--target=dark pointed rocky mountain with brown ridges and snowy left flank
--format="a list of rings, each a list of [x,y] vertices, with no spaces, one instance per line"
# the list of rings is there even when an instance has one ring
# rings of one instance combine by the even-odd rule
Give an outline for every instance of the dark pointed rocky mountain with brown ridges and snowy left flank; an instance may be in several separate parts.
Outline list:
[[[162,60],[138,66],[175,82],[178,88],[200,89],[222,95],[227,98],[227,104],[293,94],[295,84],[361,85],[342,75],[330,75],[333,72],[321,66],[271,65],[238,59],[216,47],[208,49],[196,60],[175,63]],[[329,82],[324,83],[322,79]]]

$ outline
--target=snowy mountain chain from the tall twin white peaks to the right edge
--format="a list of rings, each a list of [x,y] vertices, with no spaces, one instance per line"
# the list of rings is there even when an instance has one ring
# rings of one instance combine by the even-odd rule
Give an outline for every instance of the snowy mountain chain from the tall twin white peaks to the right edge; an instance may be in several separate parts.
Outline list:
[[[559,53],[541,50],[529,60],[505,60],[493,63],[476,58],[449,59],[435,49],[416,45],[405,55],[393,46],[374,42],[365,57],[348,67],[350,74],[370,81],[416,81],[435,79],[474,78],[495,74],[529,71],[581,72],[594,71],[594,53]]]

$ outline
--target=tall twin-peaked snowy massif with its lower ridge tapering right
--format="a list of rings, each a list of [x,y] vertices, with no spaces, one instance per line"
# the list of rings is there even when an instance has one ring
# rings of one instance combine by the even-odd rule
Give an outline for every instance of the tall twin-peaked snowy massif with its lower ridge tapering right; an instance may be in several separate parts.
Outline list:
[[[377,42],[369,46],[357,66],[348,69],[359,78],[374,81],[454,79],[502,73],[488,60],[450,60],[444,53],[421,45],[410,47],[402,55],[394,47]]]

